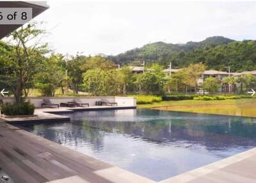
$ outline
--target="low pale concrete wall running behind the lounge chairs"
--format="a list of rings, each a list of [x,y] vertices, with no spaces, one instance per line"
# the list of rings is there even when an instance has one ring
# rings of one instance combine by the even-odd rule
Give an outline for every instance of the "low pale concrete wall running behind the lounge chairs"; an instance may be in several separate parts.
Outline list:
[[[14,102],[13,97],[0,97],[4,102]],[[118,106],[136,106],[136,99],[134,97],[28,97],[26,99],[32,102],[35,107],[41,107],[43,99],[50,99],[54,104],[61,102],[72,102],[73,99],[80,99],[83,103],[88,103],[90,106],[95,106],[96,101],[117,102]]]

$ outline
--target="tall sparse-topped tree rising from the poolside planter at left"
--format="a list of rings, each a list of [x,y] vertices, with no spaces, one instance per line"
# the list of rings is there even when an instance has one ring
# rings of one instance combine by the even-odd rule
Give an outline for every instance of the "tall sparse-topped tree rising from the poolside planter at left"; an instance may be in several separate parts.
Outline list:
[[[45,31],[33,22],[13,31],[0,52],[0,82],[15,95],[15,101],[22,102],[24,89],[33,84],[34,76],[40,72],[47,44],[42,43]]]

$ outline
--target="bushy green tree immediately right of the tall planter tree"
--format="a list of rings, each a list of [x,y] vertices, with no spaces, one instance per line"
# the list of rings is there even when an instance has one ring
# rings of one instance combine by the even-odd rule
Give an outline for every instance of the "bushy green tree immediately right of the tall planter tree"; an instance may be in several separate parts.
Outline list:
[[[63,62],[61,54],[52,53],[45,59],[41,72],[36,74],[35,86],[40,88],[43,96],[54,97],[55,89],[62,86],[65,81],[65,68],[61,67]]]

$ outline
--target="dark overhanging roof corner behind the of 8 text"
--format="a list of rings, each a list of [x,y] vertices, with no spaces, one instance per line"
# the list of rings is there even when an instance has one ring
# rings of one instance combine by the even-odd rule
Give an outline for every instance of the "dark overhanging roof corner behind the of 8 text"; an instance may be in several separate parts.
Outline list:
[[[0,1],[1,8],[32,8],[32,17],[36,17],[40,13],[44,12],[49,8],[46,2],[43,1]],[[22,25],[4,25],[0,24],[0,40],[4,36],[12,33],[15,29],[19,28]]]

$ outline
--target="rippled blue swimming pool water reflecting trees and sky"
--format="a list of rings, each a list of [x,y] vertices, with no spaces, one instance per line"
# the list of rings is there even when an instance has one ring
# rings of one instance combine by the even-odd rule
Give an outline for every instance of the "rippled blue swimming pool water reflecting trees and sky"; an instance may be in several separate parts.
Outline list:
[[[152,180],[164,180],[256,145],[256,118],[150,109],[65,114],[24,124],[38,136]]]

